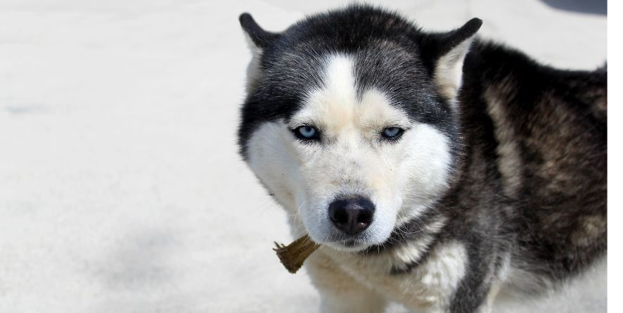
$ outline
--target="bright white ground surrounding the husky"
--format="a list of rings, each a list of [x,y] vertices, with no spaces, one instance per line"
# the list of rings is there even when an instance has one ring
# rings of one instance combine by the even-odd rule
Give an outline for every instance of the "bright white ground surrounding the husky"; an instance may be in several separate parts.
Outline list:
[[[236,154],[238,15],[282,30],[337,3],[0,0],[0,312],[316,312],[271,250],[285,214]],[[563,68],[606,60],[605,15],[383,4],[430,30],[482,18],[482,37]],[[605,311],[591,277],[565,291],[577,303],[495,312]]]

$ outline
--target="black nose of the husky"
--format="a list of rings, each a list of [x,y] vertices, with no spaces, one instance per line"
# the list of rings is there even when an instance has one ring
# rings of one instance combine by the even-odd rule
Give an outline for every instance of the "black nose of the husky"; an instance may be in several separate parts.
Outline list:
[[[374,203],[368,198],[339,199],[329,205],[331,222],[348,234],[357,234],[368,228],[373,215]]]

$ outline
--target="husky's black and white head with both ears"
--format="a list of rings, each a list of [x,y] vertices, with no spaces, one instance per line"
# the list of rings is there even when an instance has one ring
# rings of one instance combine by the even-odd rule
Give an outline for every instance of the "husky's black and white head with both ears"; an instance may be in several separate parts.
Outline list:
[[[351,6],[273,33],[240,15],[253,51],[241,153],[314,241],[382,244],[447,190],[463,59],[481,23],[425,33]]]

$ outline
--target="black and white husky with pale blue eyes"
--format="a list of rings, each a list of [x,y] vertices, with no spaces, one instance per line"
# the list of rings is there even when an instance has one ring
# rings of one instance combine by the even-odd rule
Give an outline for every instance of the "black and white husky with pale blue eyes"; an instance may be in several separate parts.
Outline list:
[[[489,312],[605,255],[607,70],[557,70],[348,6],[253,52],[240,153],[321,248],[323,312]]]

